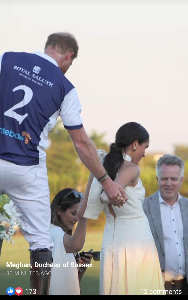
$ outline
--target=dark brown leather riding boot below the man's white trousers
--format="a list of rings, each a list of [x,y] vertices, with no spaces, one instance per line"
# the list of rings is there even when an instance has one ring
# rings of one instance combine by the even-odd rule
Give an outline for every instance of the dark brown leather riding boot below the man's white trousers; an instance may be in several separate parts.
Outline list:
[[[48,295],[51,276],[50,264],[52,263],[51,251],[31,252],[30,263],[32,295]]]

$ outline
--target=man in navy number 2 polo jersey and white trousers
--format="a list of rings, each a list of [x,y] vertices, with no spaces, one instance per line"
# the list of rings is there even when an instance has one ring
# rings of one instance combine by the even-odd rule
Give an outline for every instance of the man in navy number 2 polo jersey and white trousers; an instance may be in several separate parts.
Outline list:
[[[96,148],[84,131],[76,90],[64,76],[77,54],[74,36],[55,33],[48,37],[45,53],[6,52],[0,56],[0,194],[7,193],[22,214],[32,266],[35,262],[51,262],[44,149],[58,116],[81,161],[101,179],[111,202],[116,205],[119,193],[125,196],[122,187],[105,174]],[[37,295],[47,294],[48,276],[31,276],[31,288],[37,289]]]

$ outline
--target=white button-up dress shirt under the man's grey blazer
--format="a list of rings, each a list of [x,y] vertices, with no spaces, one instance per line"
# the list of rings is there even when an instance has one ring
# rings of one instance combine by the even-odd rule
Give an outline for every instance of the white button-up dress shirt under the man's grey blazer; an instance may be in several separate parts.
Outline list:
[[[165,248],[165,281],[186,277],[183,223],[180,211],[181,196],[169,206],[159,195],[160,214]]]

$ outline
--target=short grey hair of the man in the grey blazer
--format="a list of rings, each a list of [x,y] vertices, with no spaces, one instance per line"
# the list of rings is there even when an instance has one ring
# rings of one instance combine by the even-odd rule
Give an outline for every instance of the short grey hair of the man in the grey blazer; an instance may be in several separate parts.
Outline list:
[[[159,177],[159,168],[161,165],[165,164],[166,166],[174,166],[177,165],[180,167],[180,177],[184,176],[184,163],[183,161],[176,155],[165,154],[157,161],[156,164],[156,175]]]

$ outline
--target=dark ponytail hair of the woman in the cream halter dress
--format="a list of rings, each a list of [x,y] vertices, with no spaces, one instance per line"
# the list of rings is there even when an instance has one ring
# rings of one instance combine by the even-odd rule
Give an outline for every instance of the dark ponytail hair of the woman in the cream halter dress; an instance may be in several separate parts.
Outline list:
[[[116,178],[116,174],[123,164],[122,150],[126,152],[127,147],[137,140],[140,145],[149,140],[148,132],[140,124],[130,122],[118,129],[115,143],[110,145],[110,152],[105,156],[103,163],[112,180]]]

